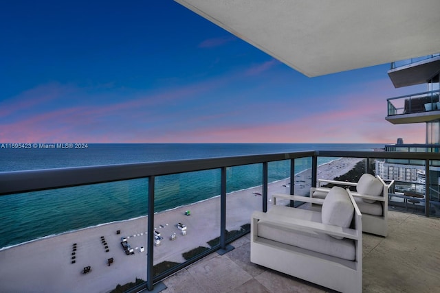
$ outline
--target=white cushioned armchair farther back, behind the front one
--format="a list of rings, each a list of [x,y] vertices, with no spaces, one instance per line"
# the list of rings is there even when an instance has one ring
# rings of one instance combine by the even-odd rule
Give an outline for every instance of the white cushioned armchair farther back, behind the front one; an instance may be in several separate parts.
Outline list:
[[[336,180],[318,180],[318,187],[310,189],[311,198],[325,198],[329,188],[321,187],[322,183],[331,183],[340,186],[354,186],[356,192],[352,195],[362,213],[362,229],[366,233],[386,237],[388,235],[388,189],[394,184],[386,184],[380,176],[363,174],[358,183]]]

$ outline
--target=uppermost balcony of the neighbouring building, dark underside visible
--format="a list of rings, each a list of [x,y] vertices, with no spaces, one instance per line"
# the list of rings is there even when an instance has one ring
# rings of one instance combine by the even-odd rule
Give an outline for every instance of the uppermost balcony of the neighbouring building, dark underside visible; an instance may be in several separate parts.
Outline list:
[[[440,54],[432,54],[391,63],[388,76],[396,88],[439,82]]]

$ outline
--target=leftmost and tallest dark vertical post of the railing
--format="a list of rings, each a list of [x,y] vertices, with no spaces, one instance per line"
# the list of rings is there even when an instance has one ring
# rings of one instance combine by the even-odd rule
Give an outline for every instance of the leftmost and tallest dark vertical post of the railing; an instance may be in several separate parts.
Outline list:
[[[154,239],[154,183],[155,176],[148,177],[148,222],[146,235],[146,287],[153,290],[153,239]]]

